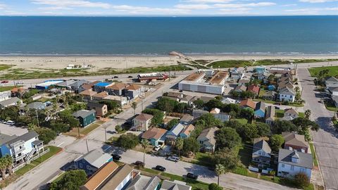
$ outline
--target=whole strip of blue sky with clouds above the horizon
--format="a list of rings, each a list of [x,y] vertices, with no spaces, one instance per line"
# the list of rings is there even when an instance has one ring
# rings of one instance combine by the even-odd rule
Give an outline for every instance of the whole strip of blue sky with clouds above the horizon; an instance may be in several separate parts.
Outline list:
[[[0,0],[0,15],[338,15],[338,0]]]

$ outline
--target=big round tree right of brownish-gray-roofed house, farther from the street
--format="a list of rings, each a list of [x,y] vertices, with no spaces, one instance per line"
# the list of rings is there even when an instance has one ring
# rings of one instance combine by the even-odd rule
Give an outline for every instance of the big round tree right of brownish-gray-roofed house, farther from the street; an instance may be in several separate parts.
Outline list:
[[[235,129],[230,127],[223,127],[222,129],[218,130],[215,135],[216,139],[216,147],[219,148],[234,148],[241,144],[241,137],[236,132]]]

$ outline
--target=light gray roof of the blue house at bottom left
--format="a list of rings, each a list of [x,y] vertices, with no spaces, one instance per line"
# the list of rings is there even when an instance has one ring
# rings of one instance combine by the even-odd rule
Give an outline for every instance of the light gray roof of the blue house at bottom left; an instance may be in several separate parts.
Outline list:
[[[91,165],[94,165],[95,167],[99,168],[105,163],[107,163],[108,160],[110,160],[112,157],[108,153],[104,153],[101,151],[100,148],[96,148],[89,153],[86,153],[84,156],[81,156],[80,158],[77,158],[75,161],[78,160],[86,160]]]

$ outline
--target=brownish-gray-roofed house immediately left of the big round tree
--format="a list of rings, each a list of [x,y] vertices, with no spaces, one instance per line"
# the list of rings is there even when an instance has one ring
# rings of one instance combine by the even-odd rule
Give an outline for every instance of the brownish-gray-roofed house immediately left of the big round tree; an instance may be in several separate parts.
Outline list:
[[[217,127],[211,127],[208,129],[204,129],[199,137],[197,137],[197,141],[201,145],[201,149],[206,152],[213,153],[215,151],[215,132],[218,131]]]

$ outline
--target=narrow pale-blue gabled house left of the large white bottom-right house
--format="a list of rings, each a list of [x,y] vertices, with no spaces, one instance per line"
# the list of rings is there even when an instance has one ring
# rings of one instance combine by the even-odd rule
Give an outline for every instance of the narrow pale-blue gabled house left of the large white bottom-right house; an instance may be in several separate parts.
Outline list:
[[[258,163],[258,167],[270,166],[271,148],[261,138],[253,139],[252,161]]]

